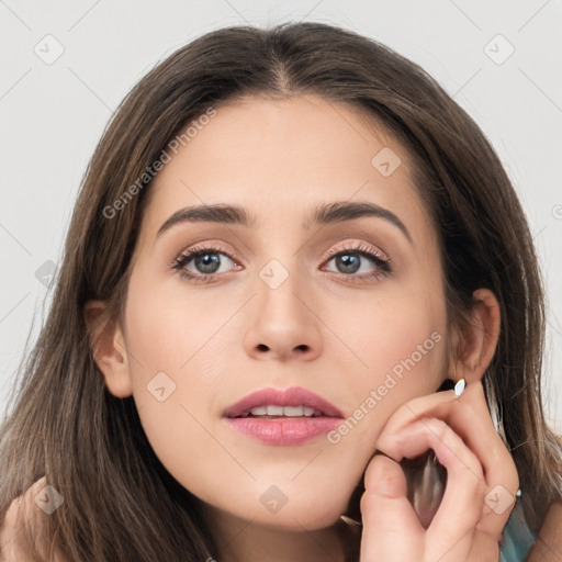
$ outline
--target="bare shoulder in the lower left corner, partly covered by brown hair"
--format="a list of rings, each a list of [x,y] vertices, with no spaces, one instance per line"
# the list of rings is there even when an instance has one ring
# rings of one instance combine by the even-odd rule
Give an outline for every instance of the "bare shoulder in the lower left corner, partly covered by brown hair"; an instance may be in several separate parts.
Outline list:
[[[35,503],[35,496],[47,485],[45,476],[37,480],[21,496],[15,497],[0,517],[0,562],[32,562],[33,548],[25,527],[30,526],[40,551],[47,552],[44,524],[48,515]],[[56,562],[67,562],[57,557]]]

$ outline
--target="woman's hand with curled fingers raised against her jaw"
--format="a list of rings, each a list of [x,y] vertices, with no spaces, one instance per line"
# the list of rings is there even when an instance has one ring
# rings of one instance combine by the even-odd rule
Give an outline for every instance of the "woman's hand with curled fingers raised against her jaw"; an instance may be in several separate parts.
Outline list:
[[[406,497],[398,462],[432,449],[447,469],[443,498],[424,529]],[[519,487],[517,469],[494,427],[482,383],[461,396],[443,391],[411,400],[386,422],[364,474],[360,562],[497,562],[498,541],[514,503],[502,513],[484,502],[501,484]],[[515,497],[513,497],[515,499]]]

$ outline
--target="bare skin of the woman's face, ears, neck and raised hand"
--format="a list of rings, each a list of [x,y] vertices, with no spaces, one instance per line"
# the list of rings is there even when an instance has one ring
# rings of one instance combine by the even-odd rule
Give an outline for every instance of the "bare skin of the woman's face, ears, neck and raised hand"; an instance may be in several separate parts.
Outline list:
[[[385,146],[402,160],[389,177],[371,165]],[[125,322],[103,333],[94,357],[109,390],[134,396],[165,467],[204,503],[221,560],[314,562],[326,552],[344,560],[337,524],[366,470],[362,562],[497,560],[510,508],[490,513],[484,495],[496,484],[507,494],[518,487],[480,382],[497,341],[498,305],[488,290],[474,294],[473,328],[462,353],[449,358],[460,333],[447,328],[436,229],[411,169],[406,149],[353,108],[315,95],[250,98],[221,106],[149,188]],[[392,211],[412,243],[381,217],[302,227],[315,205],[334,201]],[[176,211],[202,203],[241,205],[258,225],[183,223],[156,236]],[[171,268],[198,243],[220,243],[226,251],[209,250],[221,259],[209,282],[182,279]],[[357,257],[349,250],[357,245],[383,251],[392,274],[364,279],[378,269],[369,258],[359,255],[360,270],[349,273],[326,256]],[[289,273],[274,290],[259,277],[271,259]],[[205,272],[194,260],[186,268]],[[89,322],[104,306],[89,302]],[[338,443],[321,436],[296,447],[267,446],[222,418],[250,392],[293,385],[352,416],[435,331],[439,344]],[[164,402],[147,391],[160,371],[176,384]],[[436,393],[445,379],[461,376],[468,382],[461,397]],[[425,531],[397,461],[428,448],[449,471],[449,484]],[[260,502],[271,485],[288,498],[277,513]],[[491,549],[495,559],[486,558]]]

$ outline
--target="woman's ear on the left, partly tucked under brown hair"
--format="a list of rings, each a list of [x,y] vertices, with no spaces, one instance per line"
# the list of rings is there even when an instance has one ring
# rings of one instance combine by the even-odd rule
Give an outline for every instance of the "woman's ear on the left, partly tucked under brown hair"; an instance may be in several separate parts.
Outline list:
[[[102,301],[88,301],[83,315],[93,359],[103,373],[109,391],[119,398],[131,396],[133,385],[120,324],[108,318],[108,307]]]

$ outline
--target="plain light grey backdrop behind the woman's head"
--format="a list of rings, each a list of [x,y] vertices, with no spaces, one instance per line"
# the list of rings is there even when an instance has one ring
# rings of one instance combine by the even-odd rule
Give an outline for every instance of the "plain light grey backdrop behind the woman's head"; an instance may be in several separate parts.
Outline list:
[[[491,139],[540,256],[546,406],[562,430],[560,0],[0,0],[0,413],[44,321],[76,194],[113,110],[192,38],[289,20],[385,43],[431,74]]]

